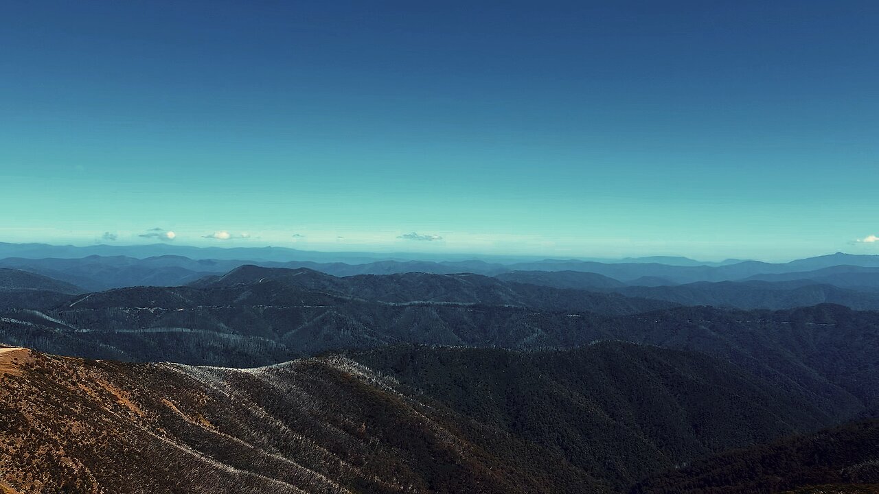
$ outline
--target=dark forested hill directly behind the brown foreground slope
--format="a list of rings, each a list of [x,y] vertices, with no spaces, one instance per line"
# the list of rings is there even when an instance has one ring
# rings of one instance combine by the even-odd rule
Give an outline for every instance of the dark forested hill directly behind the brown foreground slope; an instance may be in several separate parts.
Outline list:
[[[352,355],[615,489],[646,471],[832,419],[806,396],[692,352],[603,342],[565,352],[396,346]]]

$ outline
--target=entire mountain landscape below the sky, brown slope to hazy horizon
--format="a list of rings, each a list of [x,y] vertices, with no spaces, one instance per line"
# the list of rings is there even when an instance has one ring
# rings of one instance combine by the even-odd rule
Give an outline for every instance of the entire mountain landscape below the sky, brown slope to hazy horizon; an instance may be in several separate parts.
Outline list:
[[[0,259],[0,491],[868,492],[874,264]]]

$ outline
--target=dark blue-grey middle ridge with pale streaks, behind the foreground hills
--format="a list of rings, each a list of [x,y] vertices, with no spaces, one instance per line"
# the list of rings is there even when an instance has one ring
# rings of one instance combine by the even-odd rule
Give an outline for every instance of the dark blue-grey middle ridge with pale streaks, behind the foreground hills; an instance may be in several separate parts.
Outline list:
[[[277,281],[141,287],[53,310],[6,310],[0,341],[119,360],[249,367],[396,343],[570,348],[619,339],[722,357],[808,393],[840,418],[879,410],[879,313],[835,305],[706,307],[632,316],[454,302],[357,300]]]

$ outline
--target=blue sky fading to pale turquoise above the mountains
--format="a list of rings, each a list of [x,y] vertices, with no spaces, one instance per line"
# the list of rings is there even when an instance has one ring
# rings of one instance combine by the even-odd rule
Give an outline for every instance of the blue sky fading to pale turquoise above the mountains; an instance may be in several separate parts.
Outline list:
[[[875,2],[7,2],[0,18],[3,241],[879,253],[856,242],[879,235]]]

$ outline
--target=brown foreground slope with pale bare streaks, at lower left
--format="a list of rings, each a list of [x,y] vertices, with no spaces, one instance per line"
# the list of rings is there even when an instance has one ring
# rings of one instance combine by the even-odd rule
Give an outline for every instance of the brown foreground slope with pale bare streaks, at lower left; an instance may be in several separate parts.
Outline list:
[[[596,490],[534,445],[476,445],[460,418],[343,358],[237,370],[10,352],[0,482],[22,494]]]

